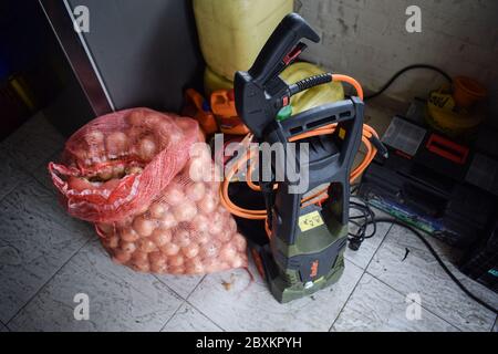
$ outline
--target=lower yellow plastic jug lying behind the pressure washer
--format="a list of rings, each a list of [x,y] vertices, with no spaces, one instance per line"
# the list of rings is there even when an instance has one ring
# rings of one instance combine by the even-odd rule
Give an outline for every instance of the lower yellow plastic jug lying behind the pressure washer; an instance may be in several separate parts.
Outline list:
[[[322,74],[324,71],[311,63],[299,62],[287,67],[280,75],[288,84],[297,83],[300,80],[313,75]],[[229,90],[234,83],[221,75],[216,74],[209,67],[204,73],[204,88],[206,96],[210,97],[212,92],[218,90]],[[292,112],[298,114],[319,105],[344,100],[344,88],[340,82],[332,82],[302,92],[291,98]]]

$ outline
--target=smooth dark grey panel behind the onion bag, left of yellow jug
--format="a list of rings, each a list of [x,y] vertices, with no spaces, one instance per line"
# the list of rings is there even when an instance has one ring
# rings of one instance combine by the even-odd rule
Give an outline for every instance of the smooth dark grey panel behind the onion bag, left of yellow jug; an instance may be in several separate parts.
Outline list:
[[[179,111],[183,90],[198,85],[203,60],[190,1],[69,0],[90,10],[83,33],[116,110]]]

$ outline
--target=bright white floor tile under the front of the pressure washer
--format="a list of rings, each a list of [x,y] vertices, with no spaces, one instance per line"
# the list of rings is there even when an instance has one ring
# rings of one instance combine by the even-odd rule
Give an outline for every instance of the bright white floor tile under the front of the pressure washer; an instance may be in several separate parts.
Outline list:
[[[362,270],[346,261],[343,277],[329,289],[287,304],[278,303],[253,264],[206,277],[188,302],[226,331],[328,331]]]

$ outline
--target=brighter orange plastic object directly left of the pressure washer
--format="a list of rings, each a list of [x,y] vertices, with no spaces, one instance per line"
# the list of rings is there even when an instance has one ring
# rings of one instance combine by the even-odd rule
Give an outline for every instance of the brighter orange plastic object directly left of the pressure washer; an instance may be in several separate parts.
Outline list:
[[[218,90],[211,94],[211,110],[221,133],[246,135],[249,129],[237,115],[234,90]]]

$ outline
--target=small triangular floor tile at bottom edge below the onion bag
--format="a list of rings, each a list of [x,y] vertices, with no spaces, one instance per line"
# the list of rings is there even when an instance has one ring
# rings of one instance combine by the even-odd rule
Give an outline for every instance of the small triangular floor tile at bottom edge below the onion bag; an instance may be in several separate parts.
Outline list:
[[[162,332],[221,332],[221,329],[188,303],[184,303]]]

